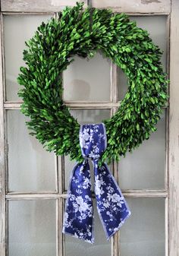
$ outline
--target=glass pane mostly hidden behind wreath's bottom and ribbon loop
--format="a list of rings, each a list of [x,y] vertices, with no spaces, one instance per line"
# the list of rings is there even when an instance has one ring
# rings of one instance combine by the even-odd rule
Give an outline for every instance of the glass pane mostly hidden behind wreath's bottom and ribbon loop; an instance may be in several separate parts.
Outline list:
[[[72,115],[78,120],[80,124],[85,123],[99,123],[103,119],[110,118],[109,109],[79,109],[71,110]],[[71,171],[74,168],[75,161],[71,161],[69,156],[64,156],[64,189],[68,189],[68,182],[70,179]],[[92,163],[91,168],[93,169]],[[93,180],[93,172],[92,180]]]

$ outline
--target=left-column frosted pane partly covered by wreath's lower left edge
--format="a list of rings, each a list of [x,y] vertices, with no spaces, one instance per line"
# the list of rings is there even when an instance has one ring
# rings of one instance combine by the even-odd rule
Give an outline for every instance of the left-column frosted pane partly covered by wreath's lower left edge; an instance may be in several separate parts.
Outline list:
[[[10,191],[55,191],[55,156],[29,134],[19,110],[7,112]]]

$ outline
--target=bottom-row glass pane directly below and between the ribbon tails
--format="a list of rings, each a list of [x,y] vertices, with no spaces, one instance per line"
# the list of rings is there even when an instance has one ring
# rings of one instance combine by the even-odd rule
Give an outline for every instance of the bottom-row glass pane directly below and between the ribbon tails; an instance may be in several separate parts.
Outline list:
[[[80,241],[71,235],[65,235],[64,255],[65,256],[110,256],[111,240],[107,242],[102,223],[96,210],[96,201],[93,201],[94,207],[94,235],[95,243],[93,245]]]

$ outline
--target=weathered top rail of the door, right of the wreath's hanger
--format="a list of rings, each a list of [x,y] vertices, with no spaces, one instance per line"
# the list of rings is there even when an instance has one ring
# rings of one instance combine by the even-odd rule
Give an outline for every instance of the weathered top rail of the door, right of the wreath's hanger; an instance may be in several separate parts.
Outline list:
[[[111,8],[113,11],[126,13],[170,13],[170,0],[91,0],[96,8]]]

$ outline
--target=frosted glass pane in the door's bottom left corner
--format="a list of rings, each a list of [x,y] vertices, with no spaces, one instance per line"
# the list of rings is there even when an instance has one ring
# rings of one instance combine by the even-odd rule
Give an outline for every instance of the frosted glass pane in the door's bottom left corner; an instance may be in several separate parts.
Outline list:
[[[9,256],[55,256],[55,201],[9,201]]]

